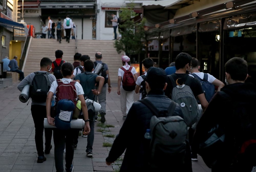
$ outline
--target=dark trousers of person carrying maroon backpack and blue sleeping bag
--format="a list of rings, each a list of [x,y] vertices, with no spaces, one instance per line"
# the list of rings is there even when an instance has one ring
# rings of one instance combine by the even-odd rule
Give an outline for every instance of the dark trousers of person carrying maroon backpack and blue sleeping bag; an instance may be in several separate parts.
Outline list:
[[[74,129],[69,130],[53,130],[53,140],[54,140],[54,158],[56,172],[63,172],[63,153],[66,144],[66,168],[70,168],[73,156],[74,156],[74,140],[73,135],[75,133]]]

